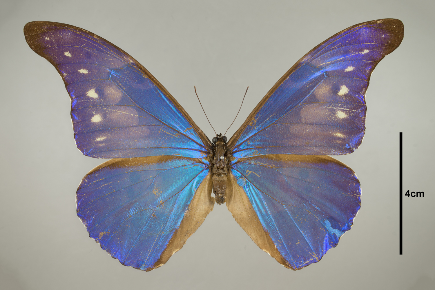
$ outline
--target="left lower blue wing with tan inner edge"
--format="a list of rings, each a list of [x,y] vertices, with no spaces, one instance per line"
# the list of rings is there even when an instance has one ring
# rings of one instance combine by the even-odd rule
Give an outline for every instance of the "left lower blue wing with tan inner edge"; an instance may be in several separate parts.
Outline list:
[[[126,266],[150,271],[180,250],[213,209],[207,162],[187,157],[112,159],[77,189],[77,215]]]

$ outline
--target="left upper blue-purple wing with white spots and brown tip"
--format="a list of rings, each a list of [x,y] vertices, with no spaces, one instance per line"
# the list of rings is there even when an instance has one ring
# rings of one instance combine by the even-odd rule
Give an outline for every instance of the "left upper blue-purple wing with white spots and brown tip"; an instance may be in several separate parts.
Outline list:
[[[56,22],[27,23],[24,35],[64,80],[75,140],[83,154],[202,158],[210,150],[211,142],[174,97],[112,43]]]

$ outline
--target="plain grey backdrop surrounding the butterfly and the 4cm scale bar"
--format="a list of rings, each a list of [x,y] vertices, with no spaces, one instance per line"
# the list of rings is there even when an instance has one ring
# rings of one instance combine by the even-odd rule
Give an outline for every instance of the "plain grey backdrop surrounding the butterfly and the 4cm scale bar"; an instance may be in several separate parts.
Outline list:
[[[1,289],[433,289],[434,1],[0,2]],[[319,262],[279,265],[215,205],[165,264],[122,266],[76,216],[81,178],[104,160],[74,144],[70,100],[56,70],[27,46],[33,20],[72,24],[121,47],[169,90],[209,137],[230,137],[300,57],[340,30],[398,18],[405,38],[372,74],[367,133],[338,157],[355,170],[362,207],[352,230]],[[398,254],[398,132],[404,132],[404,247]]]

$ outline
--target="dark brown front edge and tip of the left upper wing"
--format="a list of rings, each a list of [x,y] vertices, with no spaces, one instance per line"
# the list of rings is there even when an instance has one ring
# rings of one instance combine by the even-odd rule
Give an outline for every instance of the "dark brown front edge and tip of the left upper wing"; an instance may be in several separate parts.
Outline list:
[[[133,64],[137,68],[137,70],[140,70],[144,75],[146,75],[166,95],[166,97],[168,97],[174,103],[174,105],[178,108],[178,110],[180,110],[180,112],[187,119],[187,121],[189,123],[191,123],[192,127],[197,132],[198,136],[201,138],[201,141],[204,143],[204,146],[206,147],[207,151],[211,150],[212,143],[210,142],[210,140],[207,138],[207,136],[204,134],[204,132],[197,126],[197,124],[194,123],[194,121],[189,116],[189,114],[186,112],[186,110],[184,110],[184,108],[181,107],[181,105],[177,102],[177,100],[175,100],[175,98],[172,97],[171,93],[169,93],[165,89],[165,87],[163,87],[163,85],[144,66],[141,65],[141,63],[139,63],[137,60],[135,60],[133,57],[131,57],[130,54],[126,53],[124,50],[120,49],[119,47],[117,47],[116,45],[111,43],[110,41],[107,41],[103,37],[100,37],[97,34],[92,33],[88,30],[84,30],[83,28],[76,27],[76,26],[69,25],[69,24],[65,24],[65,23],[50,22],[50,21],[33,21],[33,22],[27,23],[24,26],[24,36],[26,37],[26,41],[33,51],[38,53],[38,50],[40,49],[40,47],[37,44],[37,41],[35,41],[33,36],[43,32],[43,31],[46,31],[45,27],[47,25],[59,27],[59,28],[67,28],[67,29],[72,29],[72,30],[77,30],[77,31],[83,31],[84,33],[88,33],[88,34],[92,35],[97,41],[101,40],[103,42],[106,42],[107,44],[114,47],[115,49],[118,49],[121,53],[124,53],[126,57],[124,57],[123,55],[118,55],[118,54],[117,54],[117,56],[120,59],[123,59],[124,61],[126,61],[127,63]],[[100,42],[100,41],[98,41],[98,42]],[[38,54],[40,54],[40,53],[38,53]]]

